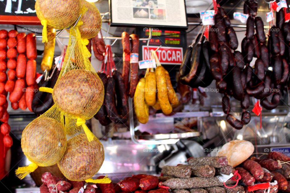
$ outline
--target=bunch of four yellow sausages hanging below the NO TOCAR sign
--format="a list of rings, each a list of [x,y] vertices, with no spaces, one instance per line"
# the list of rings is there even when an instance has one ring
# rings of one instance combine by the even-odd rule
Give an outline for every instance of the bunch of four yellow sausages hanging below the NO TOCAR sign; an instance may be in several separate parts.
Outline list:
[[[158,62],[157,67],[148,68],[144,78],[137,84],[134,94],[134,109],[140,123],[147,123],[149,120],[149,106],[156,110],[162,110],[165,115],[172,112],[172,106],[179,104],[179,99],[172,87],[169,73]],[[157,93],[157,95],[156,95]]]

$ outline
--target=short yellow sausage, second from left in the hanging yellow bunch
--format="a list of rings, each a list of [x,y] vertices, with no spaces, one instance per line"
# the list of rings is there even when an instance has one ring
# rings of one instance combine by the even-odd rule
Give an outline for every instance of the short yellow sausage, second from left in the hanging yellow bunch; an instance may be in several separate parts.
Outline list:
[[[156,103],[156,76],[155,72],[149,71],[146,74],[145,101],[147,105],[153,106]]]

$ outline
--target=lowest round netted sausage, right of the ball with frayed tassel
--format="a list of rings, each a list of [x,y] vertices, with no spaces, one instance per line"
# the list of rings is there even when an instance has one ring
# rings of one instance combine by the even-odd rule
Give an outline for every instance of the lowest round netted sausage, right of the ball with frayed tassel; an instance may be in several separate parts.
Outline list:
[[[96,137],[89,142],[85,134],[79,134],[67,141],[66,153],[57,165],[69,180],[95,182],[91,177],[100,169],[104,157],[103,145]]]

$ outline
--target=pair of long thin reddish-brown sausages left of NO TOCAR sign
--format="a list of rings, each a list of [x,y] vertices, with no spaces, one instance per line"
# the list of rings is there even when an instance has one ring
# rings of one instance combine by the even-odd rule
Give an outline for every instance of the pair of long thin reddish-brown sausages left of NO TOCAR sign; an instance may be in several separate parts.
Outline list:
[[[131,34],[129,36],[127,32],[123,32],[121,37],[123,46],[122,76],[125,85],[125,91],[128,96],[133,98],[139,78],[138,78],[138,62],[136,61],[136,59],[132,59],[133,57],[131,57],[131,55],[139,54],[139,37],[136,34]]]

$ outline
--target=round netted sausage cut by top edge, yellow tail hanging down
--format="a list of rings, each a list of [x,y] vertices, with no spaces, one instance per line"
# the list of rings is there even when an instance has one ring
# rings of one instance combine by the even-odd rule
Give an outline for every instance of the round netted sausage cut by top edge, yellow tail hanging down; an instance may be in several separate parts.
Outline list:
[[[43,25],[42,42],[47,42],[47,26],[65,29],[77,21],[81,14],[81,0],[37,0],[35,10]]]

